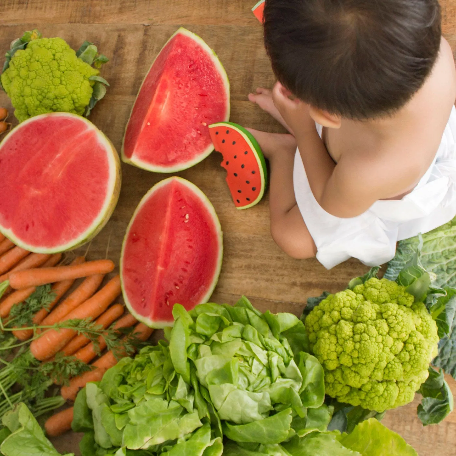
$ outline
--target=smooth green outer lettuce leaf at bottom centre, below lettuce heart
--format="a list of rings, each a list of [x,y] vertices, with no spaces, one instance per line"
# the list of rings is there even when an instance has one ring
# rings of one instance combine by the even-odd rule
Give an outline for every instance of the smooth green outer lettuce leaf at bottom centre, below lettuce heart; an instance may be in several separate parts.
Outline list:
[[[291,412],[291,409],[285,409],[268,418],[252,421],[246,425],[231,425],[224,422],[223,434],[236,442],[280,443],[287,439],[290,432]]]

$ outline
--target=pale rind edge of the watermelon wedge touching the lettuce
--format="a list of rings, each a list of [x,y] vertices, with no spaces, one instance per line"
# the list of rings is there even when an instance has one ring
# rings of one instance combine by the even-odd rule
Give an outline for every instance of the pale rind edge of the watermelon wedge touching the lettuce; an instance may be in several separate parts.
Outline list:
[[[168,177],[167,179],[164,179],[163,181],[158,182],[155,184],[145,195],[144,197],[141,198],[140,203],[138,204],[138,207],[136,207],[135,212],[133,213],[133,216],[131,217],[130,223],[128,224],[127,230],[125,232],[124,240],[122,242],[122,250],[120,252],[120,264],[119,264],[119,269],[120,269],[120,284],[122,287],[122,295],[124,296],[124,301],[125,305],[127,306],[128,310],[130,313],[136,318],[136,320],[141,321],[144,323],[146,326],[149,326],[150,328],[155,328],[155,329],[162,329],[166,326],[173,326],[174,321],[164,321],[164,320],[151,320],[147,316],[140,315],[138,312],[135,311],[133,308],[130,299],[125,291],[124,287],[124,277],[123,277],[123,263],[124,263],[124,251],[125,251],[125,245],[127,243],[128,239],[128,234],[130,233],[131,226],[133,225],[133,222],[135,221],[136,216],[140,212],[141,208],[145,204],[145,202],[161,187],[165,187],[168,184],[171,184],[172,181],[178,181],[181,184],[185,185],[188,187],[189,190],[191,190],[194,194],[197,195],[197,197],[200,198],[202,204],[207,208],[207,211],[211,215],[211,218],[213,220],[213,223],[216,228],[216,233],[217,233],[217,240],[218,240],[218,258],[217,258],[217,263],[216,263],[216,270],[214,272],[214,277],[212,280],[212,283],[209,285],[207,289],[207,293],[202,297],[201,302],[199,304],[204,304],[206,303],[209,298],[211,297],[215,286],[217,285],[218,282],[218,277],[220,276],[220,271],[222,269],[222,260],[223,260],[223,232],[222,232],[222,226],[220,225],[220,221],[218,219],[217,212],[215,212],[214,207],[212,206],[212,203],[209,201],[209,198],[202,192],[202,190],[197,187],[195,184],[193,184],[190,181],[187,181],[187,179],[183,179],[182,177],[178,176],[172,176]]]

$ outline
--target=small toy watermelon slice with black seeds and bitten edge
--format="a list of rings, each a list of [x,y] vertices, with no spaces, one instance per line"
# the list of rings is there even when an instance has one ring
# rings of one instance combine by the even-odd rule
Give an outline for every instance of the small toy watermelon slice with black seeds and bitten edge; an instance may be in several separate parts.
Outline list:
[[[233,122],[209,125],[215,150],[223,155],[226,181],[238,209],[257,204],[264,194],[268,173],[263,152],[253,135]]]

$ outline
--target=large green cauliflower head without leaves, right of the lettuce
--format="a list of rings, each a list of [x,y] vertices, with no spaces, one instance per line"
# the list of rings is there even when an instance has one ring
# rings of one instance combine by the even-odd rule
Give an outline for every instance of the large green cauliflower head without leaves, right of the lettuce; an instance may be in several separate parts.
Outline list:
[[[383,412],[411,402],[437,355],[437,325],[396,282],[372,278],[329,295],[306,317],[326,394]]]

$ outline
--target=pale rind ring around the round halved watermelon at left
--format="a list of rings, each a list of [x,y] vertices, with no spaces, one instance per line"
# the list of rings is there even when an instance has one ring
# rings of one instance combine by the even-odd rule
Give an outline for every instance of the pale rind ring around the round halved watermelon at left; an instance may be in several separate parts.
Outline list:
[[[102,131],[98,130],[98,128],[94,124],[92,124],[92,122],[77,114],[56,112],[40,114],[31,117],[30,119],[21,122],[21,124],[19,124],[14,130],[11,130],[10,133],[8,133],[8,135],[5,136],[4,140],[0,144],[0,150],[14,134],[17,134],[19,130],[21,130],[21,128],[24,125],[27,125],[35,121],[39,121],[41,119],[47,119],[49,118],[49,116],[69,117],[71,119],[77,119],[87,124],[89,129],[95,131],[98,141],[101,143],[104,150],[106,150],[107,152],[106,157],[109,163],[109,181],[103,207],[99,212],[97,218],[95,218],[93,223],[85,231],[83,231],[83,233],[81,233],[77,238],[74,238],[67,244],[60,244],[54,247],[40,247],[36,245],[27,244],[26,242],[23,242],[21,238],[18,238],[11,229],[5,228],[0,224],[0,233],[2,233],[4,236],[10,239],[11,242],[21,247],[22,249],[26,249],[30,252],[40,254],[55,254],[63,252],[65,250],[76,249],[79,246],[90,241],[93,237],[95,237],[103,229],[104,225],[106,225],[112,213],[114,212],[114,208],[117,204],[117,201],[119,200],[120,186],[122,181],[119,155],[117,154],[114,145],[111,143],[108,137],[103,134]]]

